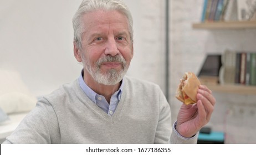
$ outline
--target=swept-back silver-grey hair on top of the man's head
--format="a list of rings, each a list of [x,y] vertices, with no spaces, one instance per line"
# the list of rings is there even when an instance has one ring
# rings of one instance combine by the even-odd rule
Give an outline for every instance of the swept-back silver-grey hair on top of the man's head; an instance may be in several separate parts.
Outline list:
[[[83,15],[100,9],[104,11],[119,11],[124,14],[129,22],[130,39],[133,42],[132,16],[124,2],[120,0],[84,0],[73,17],[74,43],[81,48],[81,39],[84,33],[84,25],[81,22]]]

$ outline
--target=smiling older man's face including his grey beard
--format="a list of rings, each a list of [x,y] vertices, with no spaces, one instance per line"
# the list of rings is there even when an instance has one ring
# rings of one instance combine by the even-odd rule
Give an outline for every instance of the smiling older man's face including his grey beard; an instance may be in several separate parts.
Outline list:
[[[133,56],[127,18],[117,11],[96,11],[85,14],[83,21],[80,54],[84,76],[104,85],[117,84]]]

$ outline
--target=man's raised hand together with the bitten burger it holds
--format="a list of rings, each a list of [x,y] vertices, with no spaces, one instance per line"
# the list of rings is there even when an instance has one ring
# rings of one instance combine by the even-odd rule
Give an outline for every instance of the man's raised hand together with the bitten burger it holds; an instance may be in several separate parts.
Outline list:
[[[211,119],[216,102],[212,91],[201,85],[196,75],[187,72],[180,80],[175,96],[184,103],[178,112],[175,129],[183,137],[194,137]]]

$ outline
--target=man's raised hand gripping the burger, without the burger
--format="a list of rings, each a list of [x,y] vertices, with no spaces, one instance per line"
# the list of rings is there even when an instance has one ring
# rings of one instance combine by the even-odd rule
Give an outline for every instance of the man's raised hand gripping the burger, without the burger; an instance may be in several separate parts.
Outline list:
[[[197,104],[182,104],[178,113],[176,130],[183,137],[194,136],[211,119],[216,99],[207,86],[200,85]]]

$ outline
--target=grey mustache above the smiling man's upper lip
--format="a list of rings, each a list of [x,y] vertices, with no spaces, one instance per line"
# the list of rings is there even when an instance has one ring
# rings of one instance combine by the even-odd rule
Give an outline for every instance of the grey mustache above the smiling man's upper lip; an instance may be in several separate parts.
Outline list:
[[[126,61],[125,61],[124,57],[122,57],[121,55],[104,56],[96,62],[96,66],[98,66],[98,68],[99,68],[101,64],[106,63],[106,62],[118,62],[118,63],[121,63],[123,67],[126,66]]]

